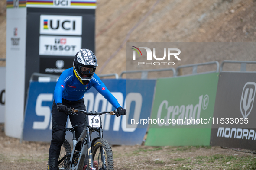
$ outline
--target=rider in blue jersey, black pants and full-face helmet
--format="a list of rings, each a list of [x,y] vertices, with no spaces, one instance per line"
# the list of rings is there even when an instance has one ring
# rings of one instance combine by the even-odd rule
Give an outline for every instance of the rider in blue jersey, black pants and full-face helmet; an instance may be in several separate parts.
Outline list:
[[[88,49],[81,49],[75,55],[73,67],[63,71],[58,79],[52,104],[52,141],[49,149],[49,170],[58,170],[58,157],[66,135],[65,128],[68,115],[65,112],[68,108],[86,110],[83,97],[84,93],[92,86],[117,109],[119,115],[126,115],[126,110],[120,106],[117,99],[94,73],[97,65],[94,53]],[[78,115],[69,116],[69,119],[72,126],[78,125],[75,134],[78,139],[85,127],[85,116],[79,113]]]

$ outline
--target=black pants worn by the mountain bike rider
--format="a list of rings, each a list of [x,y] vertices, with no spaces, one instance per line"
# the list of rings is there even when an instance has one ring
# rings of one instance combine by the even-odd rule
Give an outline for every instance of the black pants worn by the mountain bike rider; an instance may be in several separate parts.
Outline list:
[[[68,108],[86,110],[84,105],[84,99],[71,102],[62,99],[62,103]],[[68,115],[65,112],[59,112],[57,110],[57,105],[55,101],[52,104],[52,141],[49,150],[49,169],[58,170],[58,157],[60,154],[61,146],[64,142],[66,135],[66,122]],[[78,139],[85,127],[85,117],[84,114],[78,113],[78,115],[71,115],[69,117],[72,126],[78,125],[76,128],[75,138]]]

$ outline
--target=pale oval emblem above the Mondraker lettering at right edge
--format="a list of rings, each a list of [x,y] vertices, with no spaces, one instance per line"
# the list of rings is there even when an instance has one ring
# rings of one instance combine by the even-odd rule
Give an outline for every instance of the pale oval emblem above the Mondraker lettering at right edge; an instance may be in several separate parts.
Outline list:
[[[244,118],[247,118],[253,109],[255,90],[255,82],[247,82],[243,87],[243,92],[240,101],[240,111]]]

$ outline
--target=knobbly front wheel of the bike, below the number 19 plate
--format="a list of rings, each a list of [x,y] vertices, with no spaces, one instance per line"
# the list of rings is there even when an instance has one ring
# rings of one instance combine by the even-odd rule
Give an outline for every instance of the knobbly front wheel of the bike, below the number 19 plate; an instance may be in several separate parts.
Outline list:
[[[96,161],[98,167],[96,170],[113,170],[114,159],[110,144],[105,139],[98,139],[94,142],[92,150],[93,161]]]

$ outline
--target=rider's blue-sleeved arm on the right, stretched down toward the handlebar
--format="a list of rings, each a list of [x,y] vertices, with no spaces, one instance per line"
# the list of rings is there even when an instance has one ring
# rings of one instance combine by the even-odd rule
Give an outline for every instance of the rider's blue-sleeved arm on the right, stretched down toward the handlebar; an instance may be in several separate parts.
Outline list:
[[[113,96],[113,94],[110,93],[110,91],[107,89],[104,83],[100,80],[100,78],[97,76],[97,74],[94,73],[93,78],[91,79],[93,86],[95,87],[102,96],[109,101],[116,109],[121,107],[118,103],[117,99]]]

